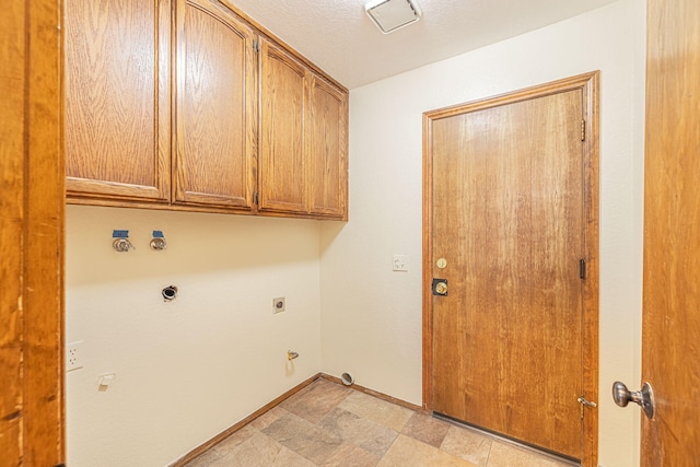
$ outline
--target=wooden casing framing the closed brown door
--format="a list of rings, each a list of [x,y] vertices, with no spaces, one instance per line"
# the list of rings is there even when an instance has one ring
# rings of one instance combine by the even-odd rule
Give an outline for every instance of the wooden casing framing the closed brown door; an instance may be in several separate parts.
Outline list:
[[[423,114],[423,404],[432,411],[433,398],[433,305],[430,284],[433,256],[433,197],[432,197],[432,121],[455,115],[483,110],[568,91],[581,90],[583,95],[583,214],[584,259],[586,279],[583,282],[582,323],[582,390],[588,400],[598,400],[598,291],[599,291],[599,71],[583,73],[541,85],[487,97],[465,104],[439,108]],[[598,411],[585,409],[583,419],[582,466],[597,466]]]

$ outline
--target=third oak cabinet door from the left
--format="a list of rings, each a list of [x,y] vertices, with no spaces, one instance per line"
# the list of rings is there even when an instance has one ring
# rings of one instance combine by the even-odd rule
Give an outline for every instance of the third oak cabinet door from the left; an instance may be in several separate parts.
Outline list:
[[[308,212],[304,112],[306,68],[260,39],[260,211]]]

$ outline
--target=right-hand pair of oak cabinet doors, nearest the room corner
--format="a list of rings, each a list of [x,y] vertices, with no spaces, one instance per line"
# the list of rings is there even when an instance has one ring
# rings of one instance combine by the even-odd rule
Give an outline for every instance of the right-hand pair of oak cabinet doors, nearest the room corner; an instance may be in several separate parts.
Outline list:
[[[259,210],[347,219],[347,93],[266,39],[259,69]]]

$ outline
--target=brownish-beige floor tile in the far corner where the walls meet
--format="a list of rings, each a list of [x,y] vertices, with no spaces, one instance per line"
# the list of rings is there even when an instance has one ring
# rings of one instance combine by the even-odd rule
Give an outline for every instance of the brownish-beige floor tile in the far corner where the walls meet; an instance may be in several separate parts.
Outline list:
[[[317,380],[280,404],[280,407],[312,423],[317,423],[350,393],[352,393],[352,389],[348,389],[345,386],[326,380]]]

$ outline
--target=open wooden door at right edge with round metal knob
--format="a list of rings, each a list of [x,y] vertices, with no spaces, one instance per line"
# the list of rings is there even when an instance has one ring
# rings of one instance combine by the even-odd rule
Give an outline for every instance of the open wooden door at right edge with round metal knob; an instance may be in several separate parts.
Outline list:
[[[642,416],[641,457],[689,467],[700,462],[700,3],[648,5],[642,383],[656,407]]]

